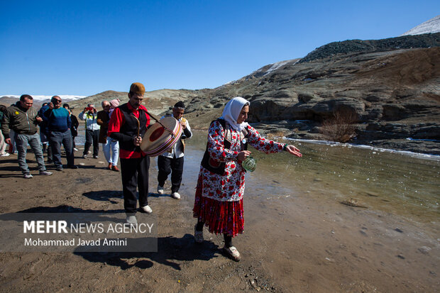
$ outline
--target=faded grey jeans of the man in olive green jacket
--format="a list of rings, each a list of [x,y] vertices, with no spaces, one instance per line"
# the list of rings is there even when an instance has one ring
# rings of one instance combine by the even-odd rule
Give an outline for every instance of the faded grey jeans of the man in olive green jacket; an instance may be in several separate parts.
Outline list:
[[[38,170],[46,170],[44,165],[43,151],[40,145],[40,136],[38,133],[35,134],[18,134],[14,133],[14,140],[16,142],[16,148],[18,150],[18,165],[20,166],[21,172],[23,174],[29,173],[29,167],[26,163],[26,153],[28,151],[28,144],[31,145],[35,159],[38,163]]]

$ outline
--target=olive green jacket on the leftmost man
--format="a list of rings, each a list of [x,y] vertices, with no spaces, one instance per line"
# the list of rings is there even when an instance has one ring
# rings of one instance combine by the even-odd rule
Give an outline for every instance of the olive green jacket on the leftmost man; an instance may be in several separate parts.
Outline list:
[[[3,122],[1,123],[1,131],[4,138],[9,138],[9,129],[18,134],[35,134],[38,131],[38,122],[35,120],[38,111],[31,107],[26,111],[20,106],[20,101],[15,105],[6,108]]]

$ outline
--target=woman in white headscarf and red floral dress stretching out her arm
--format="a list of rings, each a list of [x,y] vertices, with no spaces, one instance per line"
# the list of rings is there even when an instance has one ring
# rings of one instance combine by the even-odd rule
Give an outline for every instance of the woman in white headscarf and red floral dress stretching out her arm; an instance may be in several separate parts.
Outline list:
[[[243,233],[243,193],[245,170],[241,162],[251,155],[247,143],[264,153],[287,151],[302,157],[293,145],[265,139],[246,123],[250,103],[239,96],[226,104],[221,117],[209,126],[207,150],[200,166],[194,201],[194,238],[203,241],[203,226],[224,235],[224,253],[240,260],[232,238]]]

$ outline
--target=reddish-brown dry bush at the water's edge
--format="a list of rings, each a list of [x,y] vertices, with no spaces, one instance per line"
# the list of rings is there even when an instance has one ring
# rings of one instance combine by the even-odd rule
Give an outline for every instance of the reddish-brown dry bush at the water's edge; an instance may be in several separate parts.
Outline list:
[[[346,143],[356,136],[354,123],[358,120],[356,113],[349,110],[335,111],[331,118],[325,120],[321,126],[321,133],[326,140]]]

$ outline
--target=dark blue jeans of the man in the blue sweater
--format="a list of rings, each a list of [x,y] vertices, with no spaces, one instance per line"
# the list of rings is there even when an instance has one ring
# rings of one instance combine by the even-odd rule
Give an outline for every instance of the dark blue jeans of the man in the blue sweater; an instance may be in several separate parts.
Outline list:
[[[74,165],[72,133],[70,129],[65,132],[52,131],[49,137],[50,147],[52,148],[53,162],[55,166],[62,167],[61,163],[61,144],[64,146],[67,157],[67,166]]]

